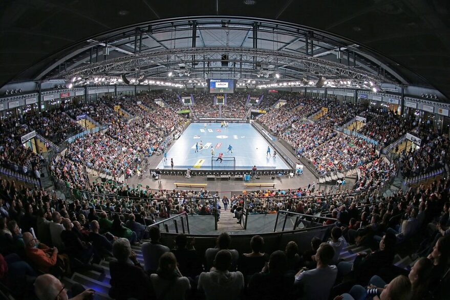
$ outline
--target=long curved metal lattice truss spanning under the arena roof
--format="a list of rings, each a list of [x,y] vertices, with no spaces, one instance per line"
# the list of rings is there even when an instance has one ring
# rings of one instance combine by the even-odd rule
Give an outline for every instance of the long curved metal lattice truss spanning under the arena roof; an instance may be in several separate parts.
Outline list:
[[[74,76],[89,77],[116,71],[134,72],[136,68],[146,65],[160,64],[166,67],[172,67],[176,66],[180,61],[189,61],[189,58],[192,56],[197,57],[197,62],[209,61],[210,63],[218,63],[221,61],[221,55],[223,53],[228,54],[228,59],[231,63],[234,63],[233,65],[238,66],[239,63],[242,62],[244,69],[253,69],[254,63],[260,63],[262,66],[266,67],[269,65],[275,66],[275,68],[279,66],[292,66],[298,69],[307,69],[310,70],[311,74],[317,72],[318,74],[333,74],[342,78],[360,81],[371,80],[378,83],[381,83],[382,81],[390,82],[376,74],[357,70],[319,57],[264,49],[229,47],[170,49],[140,53],[93,63],[90,66],[80,67],[61,75],[70,79]],[[180,56],[183,56],[183,58],[180,59]],[[225,70],[228,70],[229,72],[230,67],[224,68],[224,71]],[[298,74],[300,75],[303,73],[299,72]]]

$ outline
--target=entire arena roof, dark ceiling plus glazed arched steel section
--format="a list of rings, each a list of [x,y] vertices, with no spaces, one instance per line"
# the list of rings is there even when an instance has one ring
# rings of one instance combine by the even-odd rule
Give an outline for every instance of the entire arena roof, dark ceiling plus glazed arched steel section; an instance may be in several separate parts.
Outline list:
[[[264,82],[281,73],[290,80],[369,76],[450,96],[445,0],[34,0],[0,9],[0,85],[72,74],[163,79],[168,71],[177,80],[222,74]],[[253,61],[251,48],[258,48]]]

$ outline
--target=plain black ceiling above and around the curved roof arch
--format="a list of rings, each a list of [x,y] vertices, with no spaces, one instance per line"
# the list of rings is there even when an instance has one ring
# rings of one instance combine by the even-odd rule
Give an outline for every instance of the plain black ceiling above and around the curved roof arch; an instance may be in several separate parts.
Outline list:
[[[100,33],[163,18],[227,15],[345,37],[398,63],[409,83],[431,84],[450,98],[448,0],[4,0],[0,12],[0,87],[33,79],[30,67],[48,65],[51,54]]]

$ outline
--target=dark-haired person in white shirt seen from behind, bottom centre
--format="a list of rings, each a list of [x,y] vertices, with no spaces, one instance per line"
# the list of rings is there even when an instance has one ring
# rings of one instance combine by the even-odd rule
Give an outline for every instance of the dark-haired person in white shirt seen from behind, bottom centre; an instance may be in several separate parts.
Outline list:
[[[216,254],[210,272],[200,274],[198,290],[205,292],[206,300],[239,299],[244,288],[244,275],[230,272],[232,255],[229,250],[220,250]]]

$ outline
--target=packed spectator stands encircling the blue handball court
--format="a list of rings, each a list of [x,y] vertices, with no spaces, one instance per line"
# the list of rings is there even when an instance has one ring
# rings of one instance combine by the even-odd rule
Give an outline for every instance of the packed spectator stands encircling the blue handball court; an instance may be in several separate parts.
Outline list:
[[[250,94],[264,99],[256,106],[264,113],[251,115]],[[53,299],[66,287],[72,296],[102,299],[365,299],[388,289],[397,295],[391,299],[448,295],[442,278],[450,180],[437,172],[449,161],[446,134],[416,116],[296,92],[238,92],[221,107],[208,93],[189,95],[189,115],[178,113],[186,108],[180,94],[164,91],[1,120],[1,165],[15,177],[0,183],[0,278],[8,293]],[[85,131],[80,114],[100,130]],[[348,134],[357,115],[368,121]],[[146,158],[164,153],[190,121],[222,117],[267,128],[314,176],[337,176],[335,188],[316,180],[224,194],[124,181],[142,172]],[[30,130],[48,141],[46,152],[23,146],[20,136]],[[385,155],[407,132],[423,145]],[[402,185],[425,175],[431,179]],[[402,186],[391,187],[396,180]],[[229,216],[247,226],[272,214],[284,223],[293,218],[293,232],[305,234],[253,234],[248,243],[218,232],[217,241],[197,241],[184,227],[168,234],[165,221],[213,216],[217,225]]]

